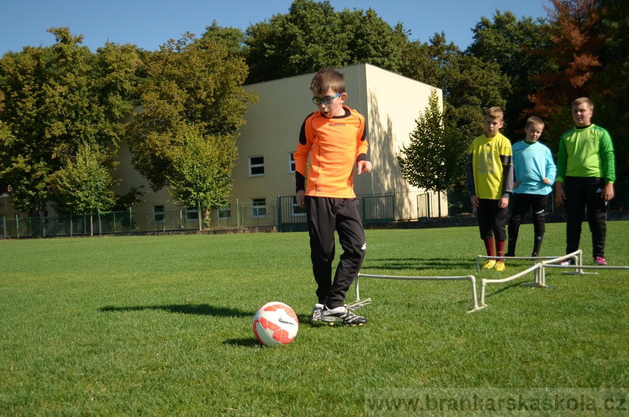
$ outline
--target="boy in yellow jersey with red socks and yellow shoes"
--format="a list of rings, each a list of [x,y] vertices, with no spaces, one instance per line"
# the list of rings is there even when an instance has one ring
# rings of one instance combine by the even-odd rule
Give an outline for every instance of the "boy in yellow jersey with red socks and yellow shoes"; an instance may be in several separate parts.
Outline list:
[[[467,190],[472,206],[477,207],[478,226],[487,256],[504,254],[507,237],[504,222],[509,196],[513,191],[511,142],[499,132],[504,125],[503,116],[503,110],[499,107],[487,110],[483,122],[485,134],[472,141],[467,159]],[[504,271],[504,261],[490,259],[482,268]]]

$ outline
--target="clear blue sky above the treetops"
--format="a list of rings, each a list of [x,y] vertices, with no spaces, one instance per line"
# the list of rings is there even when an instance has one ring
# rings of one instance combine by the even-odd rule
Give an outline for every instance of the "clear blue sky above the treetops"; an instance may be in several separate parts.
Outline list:
[[[331,0],[334,8],[367,9],[370,6],[390,25],[398,21],[422,42],[445,31],[448,41],[464,49],[472,42],[470,28],[481,16],[496,9],[516,16],[545,17],[546,0]],[[286,13],[291,0],[0,0],[0,54],[25,45],[51,45],[51,26],[70,26],[85,36],[84,44],[96,50],[111,42],[135,43],[155,50],[170,38],[190,31],[200,35],[216,20],[221,26],[245,29],[250,23]]]

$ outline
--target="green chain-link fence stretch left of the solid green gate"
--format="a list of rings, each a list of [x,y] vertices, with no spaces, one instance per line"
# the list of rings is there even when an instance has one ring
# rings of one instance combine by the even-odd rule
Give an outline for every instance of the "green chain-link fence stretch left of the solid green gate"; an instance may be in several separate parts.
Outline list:
[[[157,210],[153,208],[56,217],[3,216],[0,227],[4,239],[14,239],[277,226],[275,202],[241,203],[221,208],[159,207],[164,206],[157,206]]]

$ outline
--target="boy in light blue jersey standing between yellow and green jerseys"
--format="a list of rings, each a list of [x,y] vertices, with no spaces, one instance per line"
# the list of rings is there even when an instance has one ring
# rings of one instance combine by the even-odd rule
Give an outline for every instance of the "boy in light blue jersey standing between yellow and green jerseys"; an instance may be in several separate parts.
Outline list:
[[[552,191],[557,168],[547,146],[537,140],[544,130],[544,122],[539,117],[526,120],[526,139],[511,147],[513,151],[513,202],[509,219],[509,244],[504,256],[515,256],[518,231],[522,216],[531,209],[535,243],[531,256],[539,256],[546,231],[545,215],[547,196]]]

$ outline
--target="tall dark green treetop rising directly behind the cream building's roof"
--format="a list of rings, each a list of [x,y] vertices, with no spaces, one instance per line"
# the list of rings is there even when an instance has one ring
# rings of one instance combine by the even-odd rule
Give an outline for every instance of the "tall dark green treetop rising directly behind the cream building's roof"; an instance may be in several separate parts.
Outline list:
[[[258,83],[369,62],[398,71],[407,32],[392,28],[376,11],[343,9],[329,1],[294,0],[289,12],[255,23],[245,32],[248,83]]]

